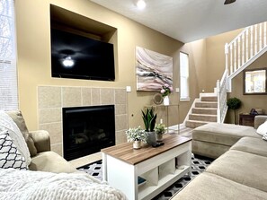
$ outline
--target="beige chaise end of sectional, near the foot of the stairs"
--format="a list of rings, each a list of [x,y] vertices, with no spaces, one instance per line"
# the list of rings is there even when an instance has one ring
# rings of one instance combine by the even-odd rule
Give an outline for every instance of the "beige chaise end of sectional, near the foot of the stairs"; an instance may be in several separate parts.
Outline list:
[[[232,146],[244,136],[261,138],[260,135],[256,134],[254,127],[232,124],[209,123],[192,131],[193,140],[220,143],[228,146]]]

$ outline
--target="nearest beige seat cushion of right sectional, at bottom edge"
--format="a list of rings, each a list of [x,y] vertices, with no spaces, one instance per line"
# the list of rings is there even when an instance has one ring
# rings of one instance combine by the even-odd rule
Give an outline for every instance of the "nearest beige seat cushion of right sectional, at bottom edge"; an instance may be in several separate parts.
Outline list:
[[[267,193],[208,172],[201,173],[172,200],[267,199]]]

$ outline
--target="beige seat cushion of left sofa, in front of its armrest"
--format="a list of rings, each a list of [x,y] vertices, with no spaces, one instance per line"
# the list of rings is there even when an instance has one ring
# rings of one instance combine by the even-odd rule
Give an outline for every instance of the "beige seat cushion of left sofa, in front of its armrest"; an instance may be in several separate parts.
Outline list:
[[[40,152],[31,158],[30,170],[49,171],[54,173],[71,173],[76,172],[68,161],[58,155],[56,152]]]

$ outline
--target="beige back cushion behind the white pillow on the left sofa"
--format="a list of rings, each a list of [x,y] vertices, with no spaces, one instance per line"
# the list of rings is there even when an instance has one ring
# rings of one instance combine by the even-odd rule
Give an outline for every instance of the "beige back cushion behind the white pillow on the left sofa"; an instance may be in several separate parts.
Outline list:
[[[19,127],[27,143],[31,156],[35,156],[37,154],[37,150],[34,146],[31,136],[29,135],[28,128],[25,124],[24,118],[22,117],[22,112],[20,110],[13,110],[13,111],[6,111],[6,114],[12,117],[14,123]]]

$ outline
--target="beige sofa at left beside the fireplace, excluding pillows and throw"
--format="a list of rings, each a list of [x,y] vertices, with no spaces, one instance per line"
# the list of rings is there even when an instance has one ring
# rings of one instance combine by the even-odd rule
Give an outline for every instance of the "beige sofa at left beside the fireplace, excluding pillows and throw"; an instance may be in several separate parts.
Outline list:
[[[31,153],[30,170],[49,172],[76,172],[68,161],[56,152],[50,151],[49,133],[44,130],[28,131],[20,110],[6,112],[19,127]]]

